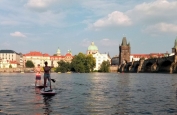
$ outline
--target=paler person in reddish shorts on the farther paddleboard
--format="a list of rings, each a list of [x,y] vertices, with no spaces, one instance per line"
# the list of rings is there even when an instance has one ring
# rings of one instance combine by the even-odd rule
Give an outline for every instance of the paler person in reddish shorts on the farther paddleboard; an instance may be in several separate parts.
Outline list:
[[[41,85],[41,67],[40,64],[37,65],[37,67],[34,70],[36,72],[36,81],[35,86],[37,85],[37,82],[39,85]]]

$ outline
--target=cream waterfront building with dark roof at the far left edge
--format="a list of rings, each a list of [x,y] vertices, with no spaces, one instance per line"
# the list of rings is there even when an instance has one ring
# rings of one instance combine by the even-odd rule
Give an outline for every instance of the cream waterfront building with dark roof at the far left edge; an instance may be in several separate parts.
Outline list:
[[[21,64],[21,54],[13,50],[0,50],[0,68],[17,68]]]

